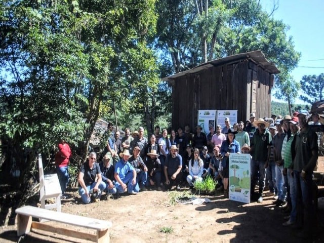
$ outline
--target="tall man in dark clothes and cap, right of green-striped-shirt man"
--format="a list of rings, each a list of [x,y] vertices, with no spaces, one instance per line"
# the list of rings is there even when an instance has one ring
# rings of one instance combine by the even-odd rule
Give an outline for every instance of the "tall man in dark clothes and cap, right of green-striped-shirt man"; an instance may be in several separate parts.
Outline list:
[[[312,176],[318,158],[317,135],[307,124],[308,112],[298,114],[300,131],[294,136],[292,143],[292,168],[294,170],[294,182],[297,192],[297,201],[302,202],[304,213],[303,230],[297,234],[302,238],[308,238],[314,227],[314,208],[312,195]]]

